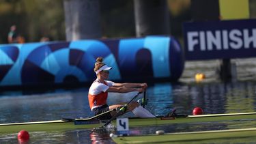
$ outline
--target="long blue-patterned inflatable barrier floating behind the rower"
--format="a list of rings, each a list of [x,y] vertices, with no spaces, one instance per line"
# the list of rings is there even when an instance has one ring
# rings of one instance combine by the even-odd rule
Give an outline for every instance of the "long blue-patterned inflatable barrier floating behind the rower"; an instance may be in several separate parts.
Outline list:
[[[1,44],[0,86],[55,85],[74,78],[91,83],[97,57],[113,67],[109,79],[116,81],[177,81],[184,69],[182,48],[169,36]]]

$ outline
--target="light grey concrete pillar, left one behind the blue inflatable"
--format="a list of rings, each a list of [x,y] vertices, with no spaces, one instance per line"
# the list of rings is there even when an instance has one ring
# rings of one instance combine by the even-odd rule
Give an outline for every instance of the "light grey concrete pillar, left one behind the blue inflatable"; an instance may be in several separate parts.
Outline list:
[[[98,0],[64,0],[66,40],[101,38]]]

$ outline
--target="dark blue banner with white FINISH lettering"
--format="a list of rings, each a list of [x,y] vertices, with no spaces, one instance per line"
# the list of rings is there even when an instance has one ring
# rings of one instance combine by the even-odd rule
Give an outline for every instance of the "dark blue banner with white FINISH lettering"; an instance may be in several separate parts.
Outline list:
[[[184,23],[186,60],[256,56],[256,19]]]

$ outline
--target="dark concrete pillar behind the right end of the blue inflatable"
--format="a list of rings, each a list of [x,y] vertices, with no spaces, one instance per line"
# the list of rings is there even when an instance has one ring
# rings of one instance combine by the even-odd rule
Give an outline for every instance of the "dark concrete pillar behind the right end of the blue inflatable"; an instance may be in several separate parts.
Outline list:
[[[169,10],[166,0],[134,0],[137,37],[169,35]]]

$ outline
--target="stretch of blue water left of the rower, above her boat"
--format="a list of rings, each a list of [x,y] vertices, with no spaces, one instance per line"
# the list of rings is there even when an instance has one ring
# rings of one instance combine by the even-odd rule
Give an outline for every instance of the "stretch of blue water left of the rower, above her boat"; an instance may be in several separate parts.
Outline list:
[[[92,115],[84,91],[0,97],[0,122],[44,121]]]

